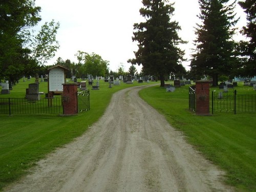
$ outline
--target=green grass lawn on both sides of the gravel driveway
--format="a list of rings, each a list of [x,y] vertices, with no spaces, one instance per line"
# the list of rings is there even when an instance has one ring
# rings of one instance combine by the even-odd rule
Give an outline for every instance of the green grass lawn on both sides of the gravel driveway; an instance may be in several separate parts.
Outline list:
[[[32,82],[33,78],[21,80],[10,95],[0,98],[24,98]],[[39,159],[86,132],[103,115],[116,91],[140,85],[121,83],[109,88],[108,83],[100,81],[100,90],[90,90],[90,111],[75,116],[0,114],[0,190],[26,174]],[[241,84],[237,90],[256,94]],[[40,82],[39,91],[47,92],[47,82]],[[188,86],[176,88],[174,93],[156,86],[142,90],[140,95],[164,114],[170,124],[184,132],[188,142],[207,159],[226,170],[228,184],[239,190],[256,191],[255,113],[194,115],[188,111]]]

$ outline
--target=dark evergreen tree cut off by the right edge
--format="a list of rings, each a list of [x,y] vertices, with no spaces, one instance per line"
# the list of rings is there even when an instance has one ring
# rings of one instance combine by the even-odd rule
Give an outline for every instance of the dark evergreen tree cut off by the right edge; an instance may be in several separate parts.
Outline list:
[[[247,25],[243,27],[242,34],[249,40],[240,41],[239,54],[242,66],[240,74],[244,76],[256,75],[256,2],[254,0],[239,1],[239,5],[247,14]]]

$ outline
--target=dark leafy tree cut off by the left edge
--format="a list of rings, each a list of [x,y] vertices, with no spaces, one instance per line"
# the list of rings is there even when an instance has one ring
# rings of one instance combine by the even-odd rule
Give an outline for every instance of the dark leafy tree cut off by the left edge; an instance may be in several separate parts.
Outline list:
[[[39,20],[40,7],[33,0],[1,1],[0,4],[0,79],[15,84],[25,70],[36,67],[29,59],[30,50],[24,49],[24,36],[28,28]]]

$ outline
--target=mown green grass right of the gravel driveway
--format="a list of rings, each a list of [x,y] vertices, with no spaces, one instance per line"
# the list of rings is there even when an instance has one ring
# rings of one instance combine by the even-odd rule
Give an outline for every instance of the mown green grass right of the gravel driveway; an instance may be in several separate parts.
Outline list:
[[[211,88],[216,90],[218,88]],[[239,93],[255,93],[239,84]],[[227,172],[226,183],[240,191],[256,191],[256,114],[218,113],[198,116],[188,110],[188,87],[167,93],[151,87],[140,96],[182,131],[207,159]]]

